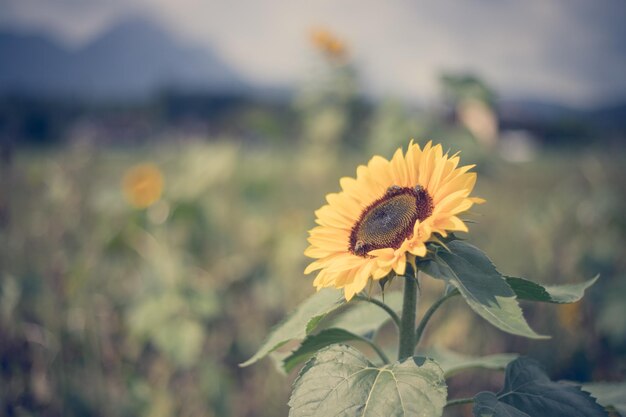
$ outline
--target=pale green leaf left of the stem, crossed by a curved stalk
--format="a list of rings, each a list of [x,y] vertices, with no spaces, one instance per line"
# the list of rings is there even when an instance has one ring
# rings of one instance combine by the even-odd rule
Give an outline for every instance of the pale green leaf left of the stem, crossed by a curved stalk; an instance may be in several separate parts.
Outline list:
[[[385,304],[399,312],[402,310],[402,293],[394,291],[385,294]],[[325,328],[337,327],[366,335],[378,330],[388,320],[390,317],[385,310],[365,300],[359,300],[357,303],[349,303],[345,311],[325,320],[322,325]]]

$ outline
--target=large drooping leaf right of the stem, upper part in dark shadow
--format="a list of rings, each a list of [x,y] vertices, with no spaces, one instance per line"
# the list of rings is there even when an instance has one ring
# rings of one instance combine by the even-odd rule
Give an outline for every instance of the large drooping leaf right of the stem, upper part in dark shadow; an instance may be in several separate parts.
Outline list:
[[[459,240],[448,247],[451,252],[439,251],[434,260],[421,262],[419,267],[458,288],[472,310],[499,329],[532,339],[547,338],[528,326],[515,293],[487,255]]]

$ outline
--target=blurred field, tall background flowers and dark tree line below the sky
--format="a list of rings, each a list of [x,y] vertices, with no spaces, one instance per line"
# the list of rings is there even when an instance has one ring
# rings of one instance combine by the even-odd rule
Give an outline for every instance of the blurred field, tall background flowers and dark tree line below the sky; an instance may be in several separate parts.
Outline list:
[[[472,74],[442,74],[436,105],[373,102],[348,45],[322,29],[311,40],[315,70],[286,103],[164,93],[71,123],[58,107],[44,112],[49,123],[30,105],[5,104],[11,132],[46,133],[3,142],[0,414],[286,415],[295,375],[270,360],[238,363],[314,291],[303,250],[325,194],[411,138],[477,164],[487,203],[468,214],[469,239],[502,272],[543,283],[601,274],[577,304],[524,306],[548,341],[500,333],[456,300],[427,343],[517,351],[555,379],[624,379],[624,131],[572,130],[561,119],[507,125],[495,92]],[[207,120],[197,134],[194,123]],[[423,283],[422,310],[441,291]],[[379,337],[395,335],[389,326]],[[501,380],[459,375],[450,391]]]

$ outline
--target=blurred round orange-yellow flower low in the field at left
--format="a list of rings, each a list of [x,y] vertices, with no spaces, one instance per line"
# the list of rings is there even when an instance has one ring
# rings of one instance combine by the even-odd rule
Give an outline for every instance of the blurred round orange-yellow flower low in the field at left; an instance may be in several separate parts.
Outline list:
[[[131,167],[122,180],[124,196],[131,206],[146,208],[159,201],[163,192],[163,175],[151,163]]]

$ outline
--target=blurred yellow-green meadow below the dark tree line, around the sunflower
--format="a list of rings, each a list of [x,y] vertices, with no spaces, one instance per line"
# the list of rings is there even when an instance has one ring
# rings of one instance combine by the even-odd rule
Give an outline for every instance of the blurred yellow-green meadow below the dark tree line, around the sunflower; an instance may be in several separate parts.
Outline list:
[[[389,147],[369,145],[386,157]],[[624,149],[539,149],[513,164],[462,147],[464,162],[479,163],[476,195],[487,199],[467,238],[503,273],[601,279],[578,304],[525,306],[551,340],[504,335],[457,300],[427,342],[464,353],[515,349],[557,379],[623,380]],[[269,359],[238,363],[313,293],[302,272],[313,211],[369,154],[228,139],[19,150],[0,173],[0,414],[286,415],[294,375]],[[164,187],[144,209],[125,199],[122,181],[146,162]],[[429,299],[440,287],[424,282]],[[391,328],[385,335],[395,337]],[[467,378],[451,392],[471,394]],[[489,388],[499,378],[473,381]]]

